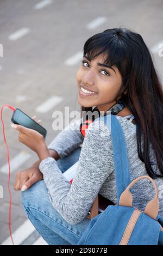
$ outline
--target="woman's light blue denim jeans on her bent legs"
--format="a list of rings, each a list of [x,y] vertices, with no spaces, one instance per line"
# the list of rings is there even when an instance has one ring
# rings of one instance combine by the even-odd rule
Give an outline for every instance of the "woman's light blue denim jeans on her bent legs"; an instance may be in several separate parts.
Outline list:
[[[79,160],[80,150],[81,147],[74,150],[70,156],[57,160],[62,173]],[[30,222],[48,245],[77,245],[91,221],[86,217],[74,225],[65,221],[52,206],[43,180],[37,181],[22,192],[22,205]]]

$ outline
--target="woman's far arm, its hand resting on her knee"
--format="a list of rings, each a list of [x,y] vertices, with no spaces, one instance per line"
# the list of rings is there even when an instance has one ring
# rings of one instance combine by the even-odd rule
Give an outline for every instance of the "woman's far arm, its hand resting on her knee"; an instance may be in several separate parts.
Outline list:
[[[79,145],[83,143],[83,137],[79,131],[80,122],[82,122],[82,119],[74,121],[63,131],[59,132],[48,145],[49,156],[58,160],[61,157],[71,154],[74,149],[78,148]],[[17,172],[14,183],[15,190],[21,190],[22,188],[26,190],[35,182],[42,179],[42,173],[39,170],[40,162],[39,159],[33,163],[31,167]]]

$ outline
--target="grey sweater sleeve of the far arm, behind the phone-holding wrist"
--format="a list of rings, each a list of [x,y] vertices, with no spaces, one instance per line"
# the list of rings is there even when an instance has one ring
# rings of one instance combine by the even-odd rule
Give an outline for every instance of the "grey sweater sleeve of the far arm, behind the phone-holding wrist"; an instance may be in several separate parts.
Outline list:
[[[47,148],[57,151],[60,158],[70,155],[74,149],[83,143],[84,137],[79,130],[80,123],[82,123],[82,118],[67,125],[64,130],[58,133]]]

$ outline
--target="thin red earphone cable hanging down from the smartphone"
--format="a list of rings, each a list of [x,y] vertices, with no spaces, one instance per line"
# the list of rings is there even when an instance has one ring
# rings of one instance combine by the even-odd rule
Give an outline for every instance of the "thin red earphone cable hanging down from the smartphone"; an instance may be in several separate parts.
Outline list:
[[[3,108],[4,107],[9,107],[10,109],[12,109],[12,111],[15,111],[15,108],[10,106],[10,105],[3,105],[2,108],[1,108],[1,121],[2,121],[2,126],[3,126],[3,137],[4,137],[4,142],[7,146],[7,156],[8,156],[8,164],[9,164],[9,177],[8,177],[8,191],[9,191],[9,196],[10,196],[10,202],[9,202],[9,232],[10,232],[10,237],[11,237],[11,241],[12,241],[12,244],[14,245],[14,241],[12,239],[12,233],[11,233],[11,202],[12,202],[12,198],[11,198],[11,191],[10,191],[10,159],[9,159],[9,147],[8,147],[8,144],[7,144],[7,141],[5,139],[5,132],[4,132],[4,123],[3,123],[3,120],[2,120],[2,111],[3,111]]]

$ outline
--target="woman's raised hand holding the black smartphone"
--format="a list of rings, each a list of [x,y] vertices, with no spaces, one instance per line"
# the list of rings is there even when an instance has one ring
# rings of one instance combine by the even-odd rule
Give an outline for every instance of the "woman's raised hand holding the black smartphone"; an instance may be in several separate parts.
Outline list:
[[[32,149],[41,161],[50,157],[47,145],[39,132],[17,124],[11,124],[11,127],[19,131],[18,141]]]

